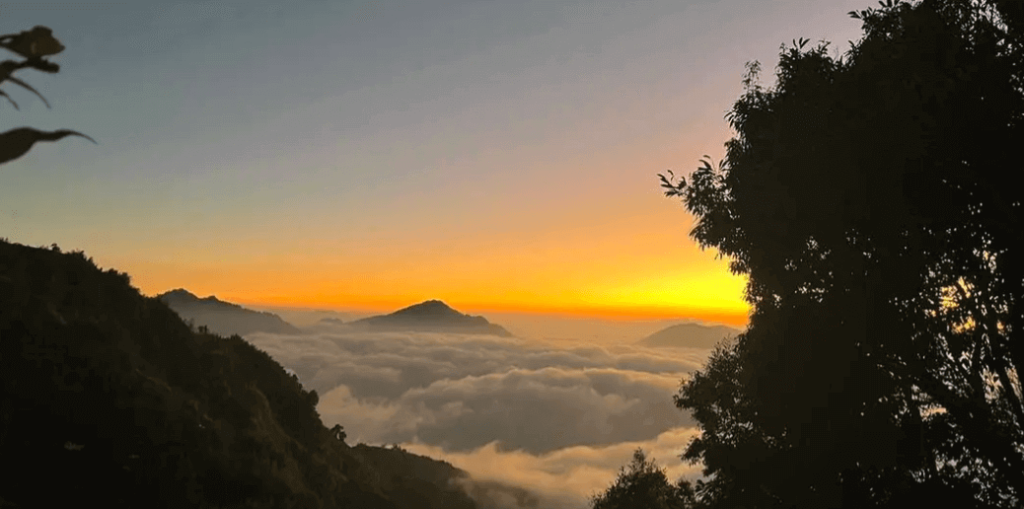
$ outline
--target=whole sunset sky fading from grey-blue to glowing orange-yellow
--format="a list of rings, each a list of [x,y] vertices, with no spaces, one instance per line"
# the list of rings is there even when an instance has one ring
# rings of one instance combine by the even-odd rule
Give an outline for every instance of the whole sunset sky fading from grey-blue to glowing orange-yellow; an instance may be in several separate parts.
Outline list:
[[[835,0],[0,3],[67,49],[4,83],[0,237],[155,295],[264,306],[691,317],[745,280],[656,174],[716,162],[744,63],[860,37]],[[13,57],[13,54],[11,54]]]

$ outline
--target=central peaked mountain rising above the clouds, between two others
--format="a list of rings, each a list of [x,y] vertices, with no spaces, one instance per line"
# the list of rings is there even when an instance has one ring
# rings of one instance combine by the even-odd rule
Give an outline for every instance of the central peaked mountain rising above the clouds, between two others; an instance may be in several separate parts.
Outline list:
[[[483,316],[463,314],[439,300],[421,302],[399,309],[391,314],[356,320],[351,325],[376,331],[453,332],[461,334],[493,334],[503,337],[512,336],[504,328],[487,322],[487,319]]]

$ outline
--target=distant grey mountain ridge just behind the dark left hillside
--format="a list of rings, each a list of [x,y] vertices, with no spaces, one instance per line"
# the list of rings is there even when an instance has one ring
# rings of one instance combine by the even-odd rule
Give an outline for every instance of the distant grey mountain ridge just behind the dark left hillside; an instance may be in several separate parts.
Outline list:
[[[177,289],[160,294],[157,298],[174,309],[185,322],[190,321],[197,327],[206,326],[215,334],[245,336],[254,332],[275,334],[300,332],[298,328],[276,314],[246,309],[212,295],[201,299],[187,290]]]

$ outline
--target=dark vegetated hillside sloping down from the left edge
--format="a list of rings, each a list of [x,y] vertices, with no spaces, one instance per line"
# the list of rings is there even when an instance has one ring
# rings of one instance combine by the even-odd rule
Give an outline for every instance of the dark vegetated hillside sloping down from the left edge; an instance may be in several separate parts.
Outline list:
[[[127,274],[0,240],[5,506],[474,507],[446,463],[361,460],[317,400],[241,337],[190,331]],[[434,473],[420,481],[407,463]]]

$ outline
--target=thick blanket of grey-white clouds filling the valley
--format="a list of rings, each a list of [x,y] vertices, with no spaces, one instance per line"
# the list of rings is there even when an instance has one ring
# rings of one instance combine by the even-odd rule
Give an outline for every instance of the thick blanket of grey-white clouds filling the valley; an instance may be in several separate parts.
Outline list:
[[[344,426],[346,441],[447,461],[470,473],[481,505],[588,507],[637,448],[670,480],[699,475],[679,458],[696,430],[672,396],[709,350],[344,325],[246,339],[316,390],[324,424]]]

